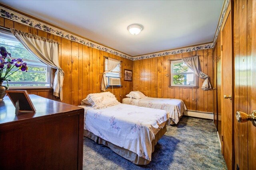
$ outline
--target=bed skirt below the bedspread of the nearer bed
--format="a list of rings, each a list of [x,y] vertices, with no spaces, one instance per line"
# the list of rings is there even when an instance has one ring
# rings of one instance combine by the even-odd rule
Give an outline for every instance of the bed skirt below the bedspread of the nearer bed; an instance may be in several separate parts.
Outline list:
[[[152,141],[152,152],[154,152],[156,143],[164,135],[164,133],[166,133],[166,131],[167,131],[166,125],[164,125],[164,128],[160,129],[160,131],[158,131],[158,133],[156,133],[155,139]],[[104,139],[101,139],[100,137],[94,135],[92,132],[90,132],[88,130],[84,130],[84,136],[92,139],[93,141],[95,141],[98,144],[102,144],[102,145],[109,147],[116,154],[119,154],[123,158],[130,160],[132,163],[134,163],[136,165],[146,165],[146,164],[149,164],[149,162],[150,162],[150,160],[144,159],[144,158],[138,156],[138,154],[136,154],[128,149],[118,147],[108,141],[105,141]]]

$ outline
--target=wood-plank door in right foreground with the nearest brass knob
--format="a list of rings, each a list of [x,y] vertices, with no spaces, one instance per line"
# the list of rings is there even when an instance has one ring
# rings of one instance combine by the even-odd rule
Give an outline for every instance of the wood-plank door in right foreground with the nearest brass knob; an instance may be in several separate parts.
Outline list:
[[[234,113],[256,110],[256,1],[234,1]],[[235,168],[255,170],[256,127],[251,121],[234,123]],[[254,162],[254,164],[253,164]]]

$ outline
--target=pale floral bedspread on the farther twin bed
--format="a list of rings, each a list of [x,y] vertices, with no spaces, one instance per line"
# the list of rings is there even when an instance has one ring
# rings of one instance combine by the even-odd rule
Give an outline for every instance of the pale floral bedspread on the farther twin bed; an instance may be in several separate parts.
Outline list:
[[[142,99],[124,98],[123,104],[166,110],[170,113],[170,119],[172,119],[175,124],[179,122],[179,117],[181,117],[183,112],[187,109],[184,102],[180,99],[149,97]]]

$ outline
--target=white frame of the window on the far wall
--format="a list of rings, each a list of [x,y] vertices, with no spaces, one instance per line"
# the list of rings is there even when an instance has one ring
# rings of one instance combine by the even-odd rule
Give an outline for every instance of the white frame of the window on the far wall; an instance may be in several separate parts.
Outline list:
[[[198,86],[198,79],[197,79],[197,76],[195,74],[195,72],[179,72],[179,73],[175,73],[173,71],[173,64],[176,64],[176,63],[184,63],[182,60],[173,60],[173,61],[170,61],[170,86],[171,87],[197,87]],[[186,85],[186,84],[173,84],[173,76],[174,75],[180,75],[180,74],[193,74],[193,77],[194,77],[194,83],[193,85]]]

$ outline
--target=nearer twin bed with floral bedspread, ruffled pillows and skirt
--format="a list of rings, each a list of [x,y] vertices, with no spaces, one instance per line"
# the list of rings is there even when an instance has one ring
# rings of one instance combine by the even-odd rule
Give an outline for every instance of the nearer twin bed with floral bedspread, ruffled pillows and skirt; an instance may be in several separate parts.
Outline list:
[[[110,92],[89,95],[80,106],[85,110],[84,136],[110,147],[134,164],[148,164],[154,146],[166,132],[166,124],[170,123],[169,113],[120,104],[114,101]]]

